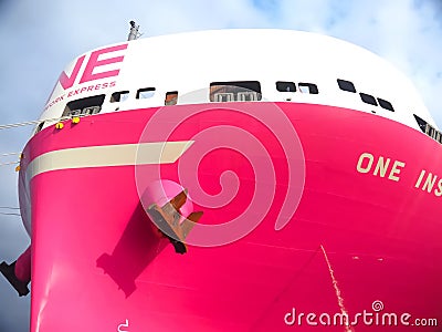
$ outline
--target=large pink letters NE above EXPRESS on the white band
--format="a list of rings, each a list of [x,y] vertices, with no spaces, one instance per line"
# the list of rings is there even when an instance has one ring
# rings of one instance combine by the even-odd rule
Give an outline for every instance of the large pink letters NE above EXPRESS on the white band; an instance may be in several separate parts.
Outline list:
[[[127,43],[122,44],[122,45],[109,46],[109,48],[105,48],[105,49],[101,49],[101,50],[92,52],[90,60],[87,61],[87,64],[84,69],[83,75],[80,79],[80,84],[86,83],[90,81],[117,76],[119,74],[119,69],[112,70],[112,71],[105,71],[105,72],[98,72],[95,74],[94,74],[94,70],[96,68],[99,68],[103,65],[123,62],[124,55],[106,58],[104,60],[98,60],[98,58],[102,54],[113,53],[113,52],[122,51],[122,50],[126,50],[126,49],[127,49]],[[76,79],[78,76],[80,70],[83,65],[85,58],[86,58],[86,55],[82,55],[77,59],[74,70],[71,73],[71,76],[69,76],[64,71],[60,74],[59,82],[64,90],[70,89],[70,87],[72,87],[72,85],[74,85],[74,82],[76,81]]]

